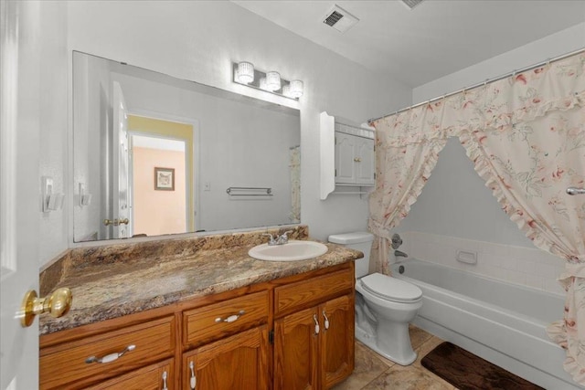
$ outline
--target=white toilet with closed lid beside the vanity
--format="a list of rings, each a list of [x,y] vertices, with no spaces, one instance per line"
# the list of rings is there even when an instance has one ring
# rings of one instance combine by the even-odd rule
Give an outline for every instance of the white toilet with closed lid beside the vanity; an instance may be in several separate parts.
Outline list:
[[[356,339],[393,362],[409,365],[417,358],[409,322],[422,306],[422,291],[404,280],[367,274],[373,240],[366,232],[329,236],[329,242],[364,253],[356,260]]]

